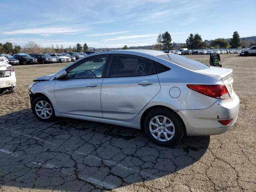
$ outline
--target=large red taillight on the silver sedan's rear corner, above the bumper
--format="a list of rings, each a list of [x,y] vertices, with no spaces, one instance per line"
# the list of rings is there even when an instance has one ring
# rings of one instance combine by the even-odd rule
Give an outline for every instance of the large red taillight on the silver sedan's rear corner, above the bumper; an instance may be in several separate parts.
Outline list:
[[[187,85],[187,87],[209,97],[218,99],[230,98],[228,90],[224,85]]]

